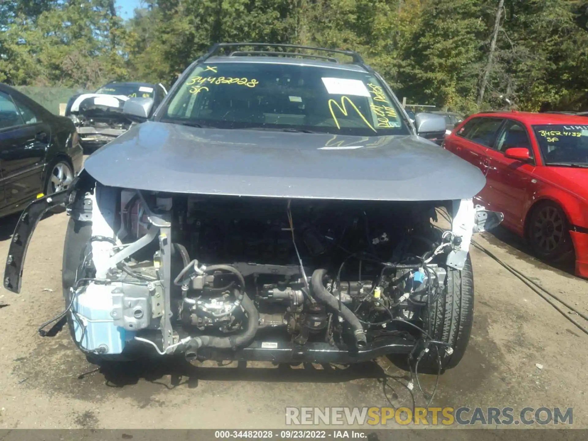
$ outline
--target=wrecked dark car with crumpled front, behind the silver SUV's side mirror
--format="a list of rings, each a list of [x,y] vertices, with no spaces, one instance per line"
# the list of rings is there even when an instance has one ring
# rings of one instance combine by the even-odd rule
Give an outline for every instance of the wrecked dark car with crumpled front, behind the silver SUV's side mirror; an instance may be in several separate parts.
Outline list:
[[[122,114],[125,101],[151,98],[155,110],[167,93],[161,83],[115,81],[96,92],[72,96],[65,108],[65,116],[78,129],[84,152],[92,153],[131,127],[132,121]]]

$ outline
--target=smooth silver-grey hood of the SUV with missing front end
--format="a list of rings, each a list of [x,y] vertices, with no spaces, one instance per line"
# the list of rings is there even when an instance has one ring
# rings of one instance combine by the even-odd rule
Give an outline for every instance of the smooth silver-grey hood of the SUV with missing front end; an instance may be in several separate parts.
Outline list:
[[[479,169],[417,136],[203,129],[145,122],[85,162],[103,185],[280,198],[472,198]]]

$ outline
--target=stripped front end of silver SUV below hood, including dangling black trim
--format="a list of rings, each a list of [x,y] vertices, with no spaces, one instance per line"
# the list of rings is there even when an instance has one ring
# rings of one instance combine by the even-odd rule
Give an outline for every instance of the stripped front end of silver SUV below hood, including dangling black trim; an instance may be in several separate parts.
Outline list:
[[[473,286],[462,292],[472,283],[470,239],[502,220],[472,199],[163,193],[103,186],[83,172],[22,214],[5,288],[19,292],[32,230],[62,202],[72,336],[109,358],[353,363],[420,351],[422,369],[437,358],[451,368],[471,327]],[[450,306],[463,296],[469,323]],[[432,345],[437,358],[427,359]]]

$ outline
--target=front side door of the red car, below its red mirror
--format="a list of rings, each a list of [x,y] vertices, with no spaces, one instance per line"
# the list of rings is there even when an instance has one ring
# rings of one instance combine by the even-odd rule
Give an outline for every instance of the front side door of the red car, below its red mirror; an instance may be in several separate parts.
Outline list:
[[[505,215],[505,224],[522,233],[523,207],[535,170],[533,148],[523,123],[509,119],[496,138],[495,148],[487,150],[489,168],[486,175],[486,194],[493,209]],[[526,148],[530,159],[507,158],[510,148]]]

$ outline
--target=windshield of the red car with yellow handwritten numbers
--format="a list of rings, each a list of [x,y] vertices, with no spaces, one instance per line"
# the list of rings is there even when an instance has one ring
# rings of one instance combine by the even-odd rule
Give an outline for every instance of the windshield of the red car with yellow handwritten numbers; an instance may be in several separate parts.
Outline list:
[[[588,165],[588,124],[534,125],[545,165]]]

